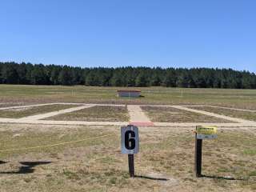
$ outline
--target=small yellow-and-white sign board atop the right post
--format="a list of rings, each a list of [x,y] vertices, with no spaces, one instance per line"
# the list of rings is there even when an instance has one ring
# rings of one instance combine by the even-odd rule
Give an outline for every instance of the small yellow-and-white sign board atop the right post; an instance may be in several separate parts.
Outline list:
[[[197,126],[197,139],[217,138],[217,127],[215,126]]]

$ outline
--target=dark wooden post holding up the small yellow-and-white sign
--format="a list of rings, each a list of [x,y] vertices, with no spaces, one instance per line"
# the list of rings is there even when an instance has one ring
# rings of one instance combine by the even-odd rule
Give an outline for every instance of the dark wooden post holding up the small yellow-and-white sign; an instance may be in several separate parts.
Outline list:
[[[197,178],[202,177],[202,139],[195,134],[194,170]]]

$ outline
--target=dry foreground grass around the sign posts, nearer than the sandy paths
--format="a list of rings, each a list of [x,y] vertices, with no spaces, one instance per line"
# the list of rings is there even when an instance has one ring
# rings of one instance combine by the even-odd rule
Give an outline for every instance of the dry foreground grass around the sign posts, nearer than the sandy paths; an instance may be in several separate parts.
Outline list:
[[[194,178],[194,134],[140,130],[138,178],[129,178],[119,127],[0,126],[1,150],[89,140],[0,153],[1,191],[254,191],[256,134],[222,130],[203,143],[204,178]],[[98,135],[116,134],[106,138]],[[27,187],[30,186],[30,187]]]

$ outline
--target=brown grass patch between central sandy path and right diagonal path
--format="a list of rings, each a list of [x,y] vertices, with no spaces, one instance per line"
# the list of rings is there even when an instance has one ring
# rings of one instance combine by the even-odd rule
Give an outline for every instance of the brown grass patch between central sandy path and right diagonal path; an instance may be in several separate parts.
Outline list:
[[[142,106],[142,110],[152,122],[230,122],[222,118],[214,118],[173,107]]]

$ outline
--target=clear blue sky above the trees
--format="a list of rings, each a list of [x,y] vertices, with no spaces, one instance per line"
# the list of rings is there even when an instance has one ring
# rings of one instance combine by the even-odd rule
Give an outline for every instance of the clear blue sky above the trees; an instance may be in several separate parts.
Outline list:
[[[255,0],[1,0],[0,61],[256,72]]]

